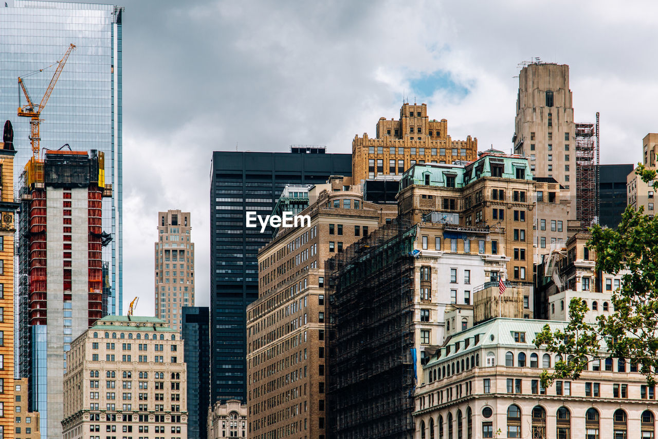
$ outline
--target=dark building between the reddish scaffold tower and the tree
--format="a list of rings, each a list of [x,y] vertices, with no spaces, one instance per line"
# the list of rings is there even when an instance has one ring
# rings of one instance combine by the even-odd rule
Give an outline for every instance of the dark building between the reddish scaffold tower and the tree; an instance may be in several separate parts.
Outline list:
[[[626,210],[626,176],[633,165],[599,165],[599,224],[615,228]]]

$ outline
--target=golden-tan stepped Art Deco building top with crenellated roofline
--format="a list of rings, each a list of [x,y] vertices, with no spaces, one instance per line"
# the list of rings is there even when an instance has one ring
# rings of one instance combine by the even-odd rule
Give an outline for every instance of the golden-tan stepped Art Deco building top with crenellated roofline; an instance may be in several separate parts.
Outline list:
[[[453,163],[475,160],[478,140],[453,140],[447,133],[447,120],[430,120],[427,105],[409,105],[400,109],[397,121],[381,117],[376,137],[355,136],[352,141],[352,179],[355,183],[368,178],[399,178],[415,163]]]

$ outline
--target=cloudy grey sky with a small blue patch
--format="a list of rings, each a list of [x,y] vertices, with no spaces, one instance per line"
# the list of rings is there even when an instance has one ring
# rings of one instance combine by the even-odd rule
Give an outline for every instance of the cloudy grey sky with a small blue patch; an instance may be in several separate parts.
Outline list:
[[[351,152],[403,99],[455,139],[509,151],[519,63],[570,66],[574,117],[601,113],[601,163],[658,131],[658,3],[130,1],[123,15],[124,308],[153,315],[157,212],[191,212],[209,305],[215,150]],[[124,309],[125,312],[125,309]]]

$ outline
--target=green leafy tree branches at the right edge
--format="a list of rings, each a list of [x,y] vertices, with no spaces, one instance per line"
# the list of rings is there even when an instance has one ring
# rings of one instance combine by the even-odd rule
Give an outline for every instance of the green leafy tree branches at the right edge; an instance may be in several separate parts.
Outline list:
[[[638,164],[635,173],[658,189],[656,171]],[[653,385],[658,374],[658,219],[646,216],[642,207],[629,206],[617,229],[594,225],[590,232],[588,246],[596,252],[597,270],[626,273],[612,294],[615,312],[586,324],[587,305],[574,298],[569,304],[569,324],[563,330],[544,326],[535,345],[545,345],[563,360],[555,363],[553,372],[542,372],[542,386],[550,386],[555,379],[577,379],[588,363],[610,357],[636,365]]]

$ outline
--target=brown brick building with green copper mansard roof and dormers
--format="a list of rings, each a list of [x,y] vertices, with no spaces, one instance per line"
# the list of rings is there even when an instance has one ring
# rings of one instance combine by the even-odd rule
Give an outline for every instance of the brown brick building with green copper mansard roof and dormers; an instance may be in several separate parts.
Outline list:
[[[434,212],[465,227],[502,227],[504,240],[485,241],[486,252],[509,256],[505,279],[531,285],[534,185],[527,158],[495,150],[480,153],[466,166],[425,163],[403,177],[397,195],[399,214],[411,223]],[[464,245],[458,235],[445,241],[452,252]]]

